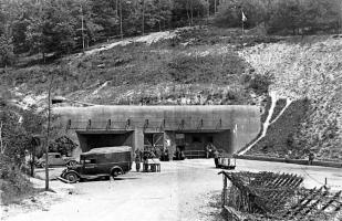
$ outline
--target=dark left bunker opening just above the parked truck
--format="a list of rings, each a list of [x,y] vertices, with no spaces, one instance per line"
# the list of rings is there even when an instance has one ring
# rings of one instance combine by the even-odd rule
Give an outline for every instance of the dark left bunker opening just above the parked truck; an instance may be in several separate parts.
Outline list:
[[[129,146],[133,145],[133,131],[76,131],[82,151],[99,147]]]

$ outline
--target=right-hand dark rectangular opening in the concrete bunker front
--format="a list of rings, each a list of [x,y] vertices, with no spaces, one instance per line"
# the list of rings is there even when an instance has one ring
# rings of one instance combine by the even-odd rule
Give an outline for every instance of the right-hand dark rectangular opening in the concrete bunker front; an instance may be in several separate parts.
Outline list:
[[[176,131],[176,149],[182,150],[187,158],[205,158],[206,146],[214,145],[217,149],[232,152],[231,130]]]

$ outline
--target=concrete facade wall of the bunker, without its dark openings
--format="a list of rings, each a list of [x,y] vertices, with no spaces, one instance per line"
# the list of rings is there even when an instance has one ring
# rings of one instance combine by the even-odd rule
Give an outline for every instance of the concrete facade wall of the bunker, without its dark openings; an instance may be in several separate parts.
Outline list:
[[[75,137],[76,130],[132,130],[133,148],[143,148],[144,133],[165,131],[170,140],[175,139],[173,131],[213,133],[215,139],[229,145],[229,152],[235,152],[260,130],[257,106],[93,106],[59,107],[53,112],[61,116],[60,124],[64,128],[71,122],[68,130],[71,137]],[[175,144],[170,148],[175,149]]]

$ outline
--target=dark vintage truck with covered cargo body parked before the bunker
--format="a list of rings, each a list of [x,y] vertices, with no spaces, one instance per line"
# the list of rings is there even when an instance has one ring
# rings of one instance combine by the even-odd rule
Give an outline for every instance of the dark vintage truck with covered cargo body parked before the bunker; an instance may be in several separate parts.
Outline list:
[[[101,147],[80,156],[80,162],[68,166],[60,180],[76,182],[84,179],[110,178],[126,173],[132,168],[132,147]]]

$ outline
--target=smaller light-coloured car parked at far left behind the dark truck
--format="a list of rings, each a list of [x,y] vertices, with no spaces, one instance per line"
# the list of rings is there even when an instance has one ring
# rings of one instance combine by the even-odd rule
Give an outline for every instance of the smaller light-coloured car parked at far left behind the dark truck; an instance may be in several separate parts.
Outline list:
[[[75,165],[77,161],[73,157],[64,157],[60,152],[49,152],[48,162],[50,166],[68,166]],[[45,154],[35,162],[38,167],[45,167]]]

